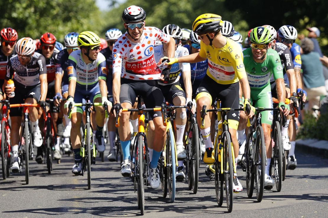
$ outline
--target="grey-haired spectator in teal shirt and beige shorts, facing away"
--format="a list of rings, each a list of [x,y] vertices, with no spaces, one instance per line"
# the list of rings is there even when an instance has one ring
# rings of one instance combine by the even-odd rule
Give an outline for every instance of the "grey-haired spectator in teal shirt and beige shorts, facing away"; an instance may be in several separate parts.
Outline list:
[[[314,44],[309,38],[301,41],[301,59],[303,69],[304,90],[307,92],[308,109],[319,109],[321,95],[327,95],[319,54],[313,51]],[[318,112],[313,115],[317,117]]]

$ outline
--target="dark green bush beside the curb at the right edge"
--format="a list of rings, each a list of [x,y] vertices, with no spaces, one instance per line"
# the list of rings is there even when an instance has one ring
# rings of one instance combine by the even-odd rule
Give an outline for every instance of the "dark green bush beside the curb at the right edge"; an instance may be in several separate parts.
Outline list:
[[[318,139],[328,141],[328,113],[321,114],[318,120],[305,113],[303,125],[297,130],[297,139]]]

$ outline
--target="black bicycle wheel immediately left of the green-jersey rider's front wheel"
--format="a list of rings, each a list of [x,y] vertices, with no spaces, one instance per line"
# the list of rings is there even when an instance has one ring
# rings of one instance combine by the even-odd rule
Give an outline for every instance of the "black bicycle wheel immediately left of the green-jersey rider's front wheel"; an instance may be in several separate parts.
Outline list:
[[[250,130],[248,130],[250,131]],[[250,134],[248,139],[247,149],[245,149],[246,153],[246,190],[248,198],[253,196],[254,191],[254,142],[252,141],[253,133]],[[253,172],[252,172],[253,171]]]

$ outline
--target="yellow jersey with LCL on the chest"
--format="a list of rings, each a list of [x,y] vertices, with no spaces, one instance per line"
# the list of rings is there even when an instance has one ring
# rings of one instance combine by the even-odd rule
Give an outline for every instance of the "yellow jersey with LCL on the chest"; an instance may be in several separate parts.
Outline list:
[[[199,56],[208,59],[206,74],[219,84],[233,84],[247,77],[241,47],[231,39],[227,38],[227,44],[222,48],[200,41]]]

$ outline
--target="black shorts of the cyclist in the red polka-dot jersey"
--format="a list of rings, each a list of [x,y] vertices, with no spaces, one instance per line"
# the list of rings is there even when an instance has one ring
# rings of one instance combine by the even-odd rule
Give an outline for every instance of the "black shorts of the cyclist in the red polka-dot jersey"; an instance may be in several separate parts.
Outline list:
[[[157,80],[138,81],[121,78],[120,102],[133,105],[137,95],[143,98],[146,108],[160,108],[165,102]],[[160,111],[149,111],[149,115],[153,118],[162,116]]]

